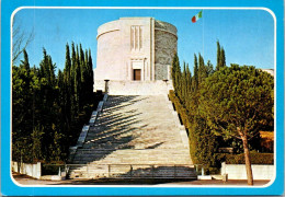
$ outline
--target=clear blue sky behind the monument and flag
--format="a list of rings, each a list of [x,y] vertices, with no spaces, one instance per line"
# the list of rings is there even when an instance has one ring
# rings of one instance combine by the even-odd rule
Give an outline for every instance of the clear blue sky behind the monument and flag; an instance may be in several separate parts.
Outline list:
[[[226,61],[274,68],[274,20],[264,10],[203,10],[203,18],[192,23],[198,10],[157,9],[23,9],[15,18],[21,28],[34,31],[27,47],[30,65],[38,66],[43,47],[56,62],[65,66],[66,43],[82,44],[92,51],[93,67],[96,57],[96,30],[100,25],[123,16],[153,16],[178,28],[180,61],[189,62],[193,70],[194,53],[201,53],[205,62],[216,66],[216,42],[226,51]]]

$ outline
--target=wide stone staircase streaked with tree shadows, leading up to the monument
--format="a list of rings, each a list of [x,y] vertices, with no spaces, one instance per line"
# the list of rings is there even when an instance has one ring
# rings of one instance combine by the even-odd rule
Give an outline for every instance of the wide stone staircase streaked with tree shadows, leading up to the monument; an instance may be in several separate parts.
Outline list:
[[[167,96],[109,96],[70,178],[196,178],[184,127]]]

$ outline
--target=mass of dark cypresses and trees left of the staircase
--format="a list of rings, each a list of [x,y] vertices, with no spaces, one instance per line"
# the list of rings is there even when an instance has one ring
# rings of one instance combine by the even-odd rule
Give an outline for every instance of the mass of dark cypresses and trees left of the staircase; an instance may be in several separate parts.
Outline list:
[[[30,68],[27,53],[23,55],[24,60],[12,69],[12,158],[64,161],[99,102],[93,93],[91,51],[84,54],[81,45],[80,53],[76,51],[72,43],[70,58],[67,44],[65,69],[57,76],[45,49],[38,68]]]

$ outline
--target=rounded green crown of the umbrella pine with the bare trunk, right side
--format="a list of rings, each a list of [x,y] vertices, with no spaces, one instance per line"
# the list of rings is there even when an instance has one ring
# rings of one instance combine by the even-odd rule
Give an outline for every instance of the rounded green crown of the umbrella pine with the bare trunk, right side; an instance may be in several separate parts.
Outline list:
[[[251,139],[273,117],[273,78],[254,67],[225,67],[202,84],[201,115],[225,139]]]

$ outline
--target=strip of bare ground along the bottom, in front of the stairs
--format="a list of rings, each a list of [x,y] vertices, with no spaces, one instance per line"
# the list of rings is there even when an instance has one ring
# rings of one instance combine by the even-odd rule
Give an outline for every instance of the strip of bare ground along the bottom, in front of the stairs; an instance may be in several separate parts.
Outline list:
[[[247,186],[246,179],[230,179],[223,182],[218,179],[207,181],[182,181],[182,179],[65,179],[65,181],[45,181],[35,179],[26,175],[13,173],[14,179],[21,185],[156,185],[156,186]],[[254,186],[263,186],[270,181],[254,181]]]

